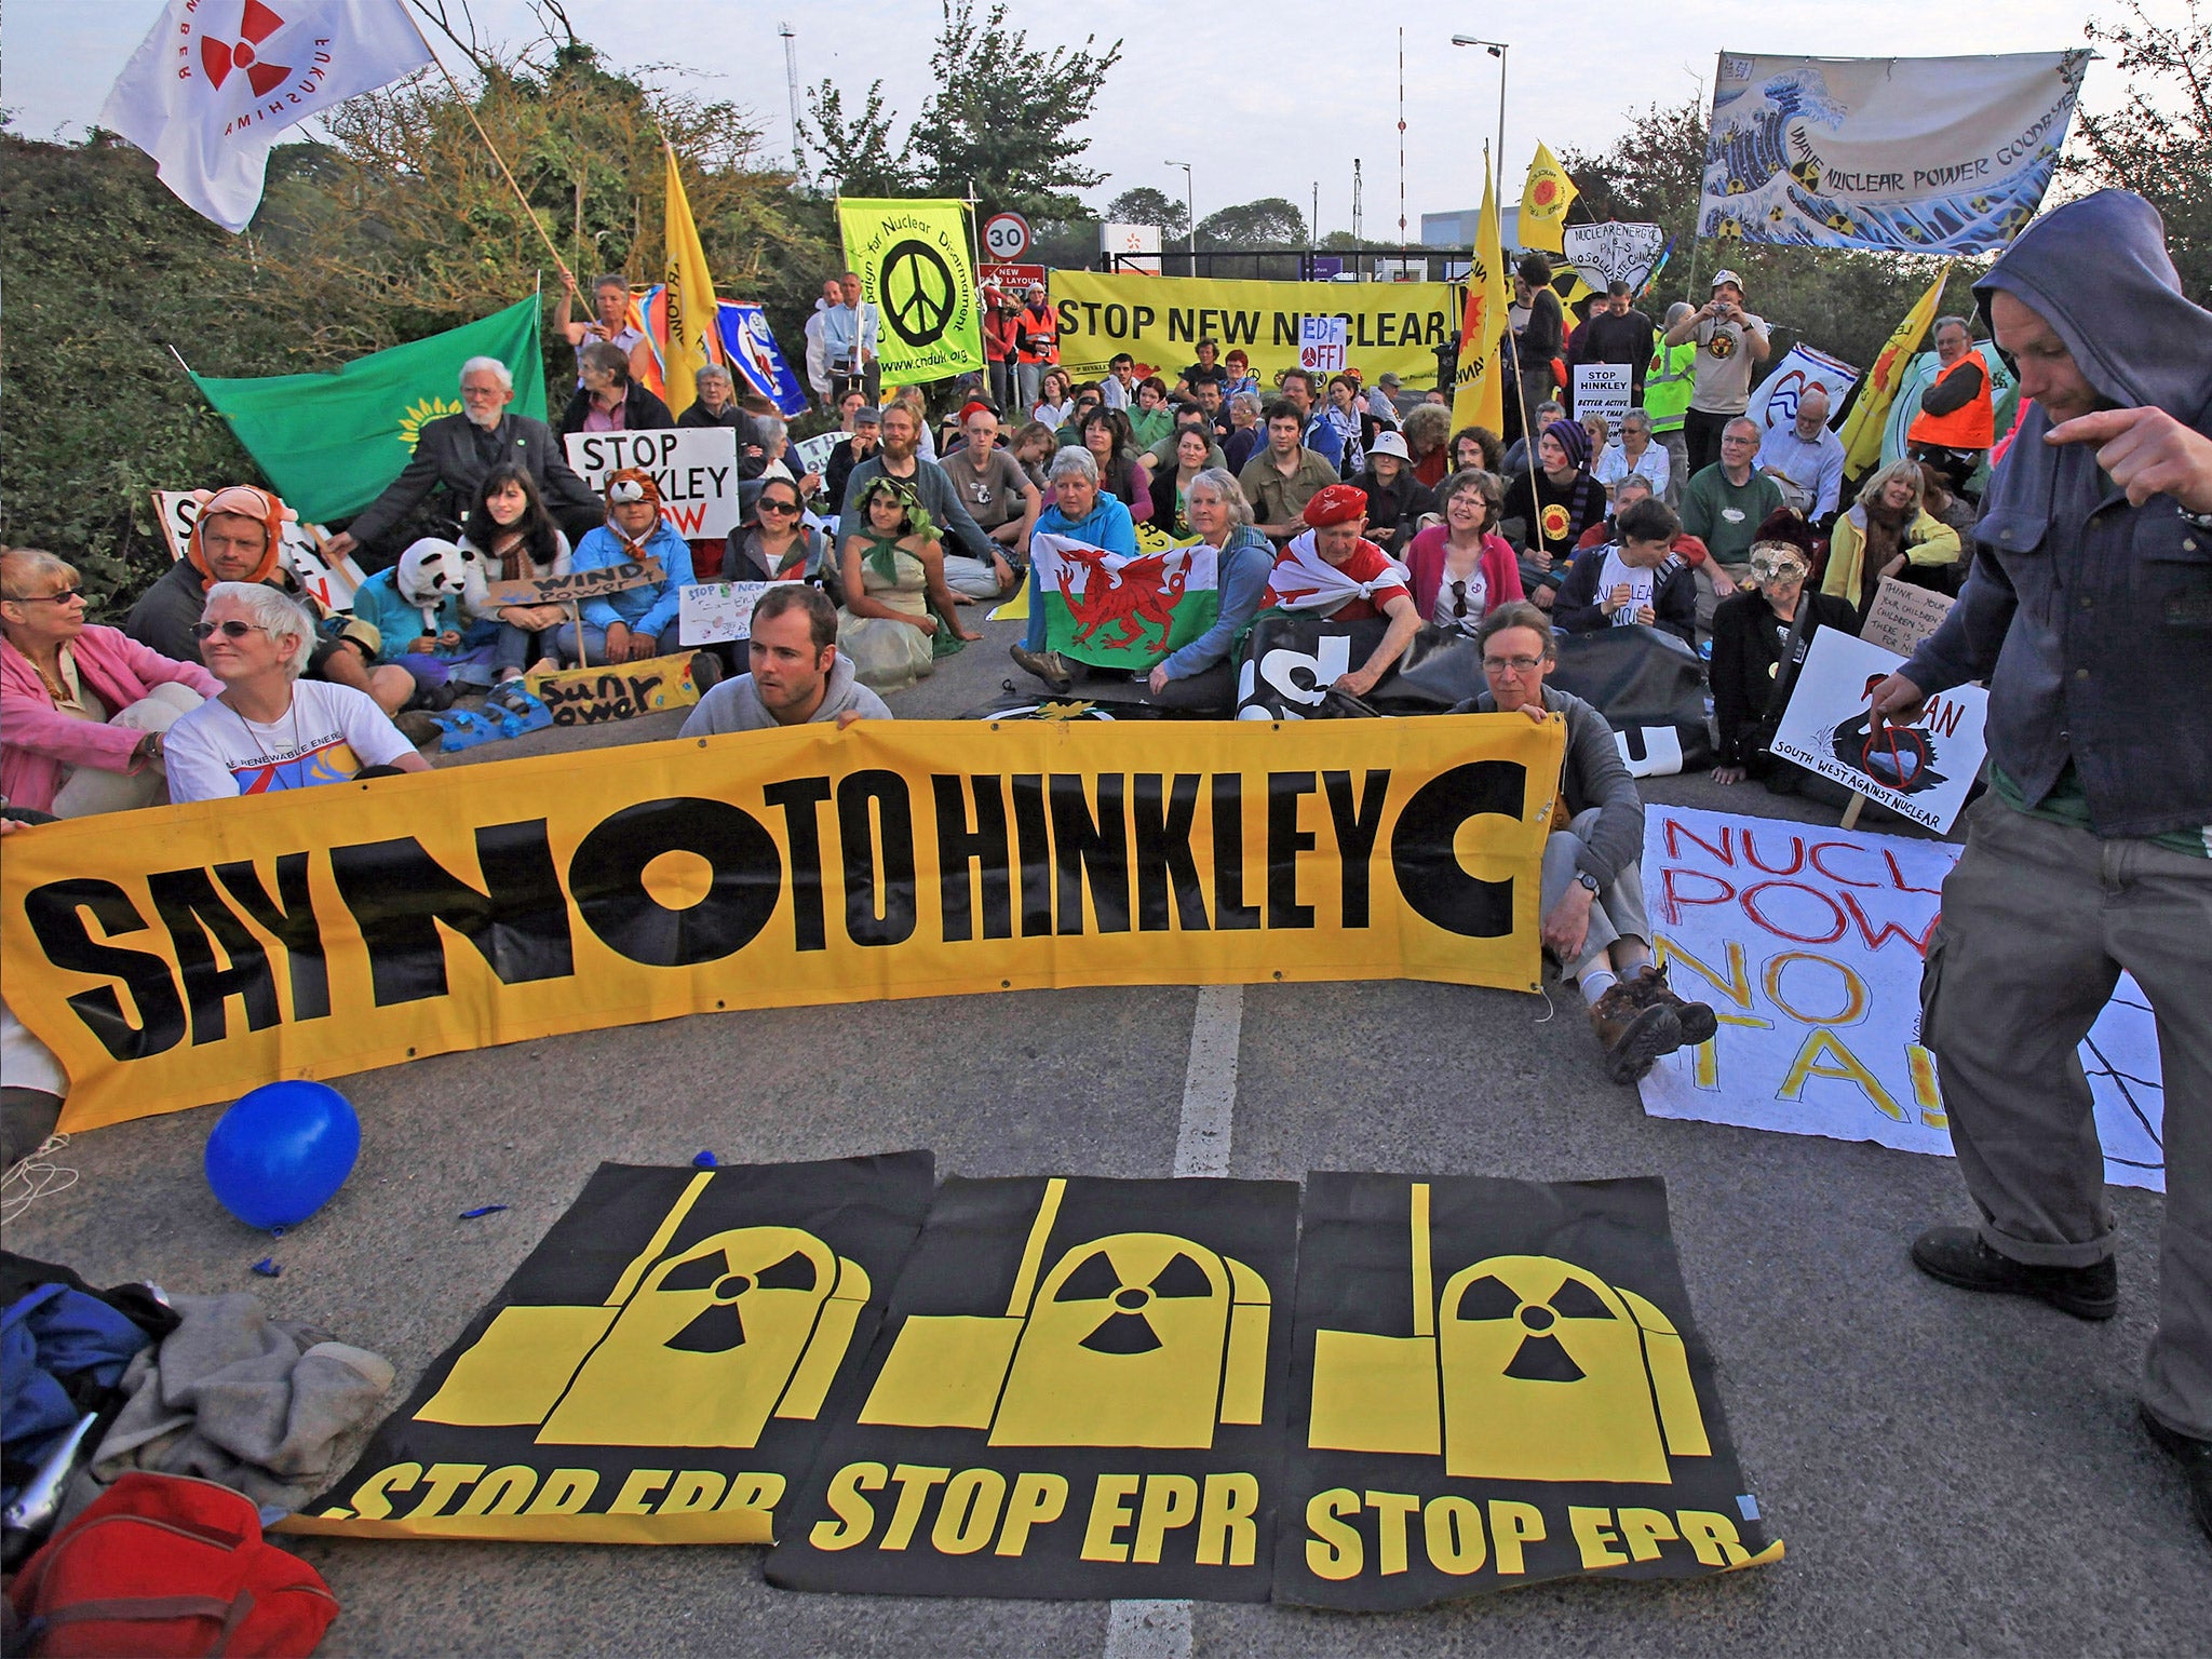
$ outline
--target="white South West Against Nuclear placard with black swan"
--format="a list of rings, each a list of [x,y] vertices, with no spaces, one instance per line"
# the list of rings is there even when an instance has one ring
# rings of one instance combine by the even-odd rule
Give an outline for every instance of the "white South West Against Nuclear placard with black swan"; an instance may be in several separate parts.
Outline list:
[[[1989,754],[1982,739],[1989,692],[1980,686],[1938,692],[1911,726],[1871,732],[1867,688],[1902,666],[1905,657],[1893,650],[1840,628],[1820,628],[1770,748],[1900,818],[1944,834]]]

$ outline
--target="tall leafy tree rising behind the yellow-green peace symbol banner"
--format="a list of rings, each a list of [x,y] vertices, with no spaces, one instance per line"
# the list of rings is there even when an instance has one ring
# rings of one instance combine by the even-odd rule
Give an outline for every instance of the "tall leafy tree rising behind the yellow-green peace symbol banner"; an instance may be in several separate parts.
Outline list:
[[[922,104],[894,155],[894,111],[874,82],[858,115],[845,113],[834,82],[807,93],[801,133],[823,157],[823,177],[845,195],[938,195],[975,190],[978,212],[1015,210],[1031,221],[1086,215],[1075,190],[1104,184],[1084,166],[1091,119],[1121,42],[1040,51],[1011,29],[1004,0],[978,20],[973,0],[940,0],[942,27],[929,53],[938,91]]]

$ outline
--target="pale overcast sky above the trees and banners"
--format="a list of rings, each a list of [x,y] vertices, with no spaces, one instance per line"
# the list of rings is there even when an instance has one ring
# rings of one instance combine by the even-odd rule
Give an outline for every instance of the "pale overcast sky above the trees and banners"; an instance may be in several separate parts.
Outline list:
[[[212,0],[217,9],[237,0]],[[281,0],[276,0],[281,9]],[[978,0],[978,11],[987,0]],[[790,100],[776,24],[799,33],[801,84],[830,77],[854,97],[883,80],[900,117],[929,95],[931,0],[566,0],[580,35],[622,69],[661,66],[668,86],[748,106],[768,148],[787,159]],[[2183,22],[2183,0],[2146,0],[2161,22]],[[100,111],[161,0],[7,0],[0,13],[0,106],[29,137],[77,137]],[[522,44],[524,0],[476,0],[480,31]],[[1108,175],[1088,192],[1104,208],[1119,190],[1181,195],[1194,166],[1199,217],[1281,195],[1307,210],[1321,186],[1321,230],[1352,228],[1352,157],[1365,164],[1365,234],[1398,232],[1398,27],[1405,27],[1405,219],[1482,199],[1482,144],[1498,133],[1498,60],[1451,46],[1453,33],[1511,42],[1506,73],[1506,199],[1520,195],[1528,155],[1601,150],[1630,111],[1674,104],[1699,82],[1710,93],[1721,49],[1809,55],[1942,55],[2062,51],[2084,44],[2090,15],[2117,4],[2006,0],[1929,7],[1927,0],[1661,0],[1553,7],[1400,0],[1121,0],[1110,7],[1013,0],[1033,44],[1079,44],[1075,18],[1095,15],[1124,40],[1088,135],[1091,164]],[[1931,31],[1929,24],[1936,24]],[[434,35],[436,40],[436,35]],[[442,40],[447,60],[460,58]],[[2126,95],[2115,64],[2090,66],[2088,108]]]

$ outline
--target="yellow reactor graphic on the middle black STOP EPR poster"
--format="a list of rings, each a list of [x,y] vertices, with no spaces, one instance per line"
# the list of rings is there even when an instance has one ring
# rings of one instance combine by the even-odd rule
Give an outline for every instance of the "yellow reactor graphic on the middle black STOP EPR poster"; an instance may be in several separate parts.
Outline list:
[[[1267,1283],[1168,1232],[1044,1248],[1066,1181],[1044,1183],[1000,1314],[914,1314],[860,1422],[989,1429],[993,1447],[1212,1447],[1261,1420]]]

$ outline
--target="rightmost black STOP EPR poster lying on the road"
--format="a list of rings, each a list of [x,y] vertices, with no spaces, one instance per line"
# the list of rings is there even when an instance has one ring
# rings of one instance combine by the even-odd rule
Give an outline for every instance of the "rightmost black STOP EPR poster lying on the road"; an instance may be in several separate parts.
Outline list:
[[[1659,1179],[1307,1175],[1274,1597],[1345,1610],[1781,1557]]]

